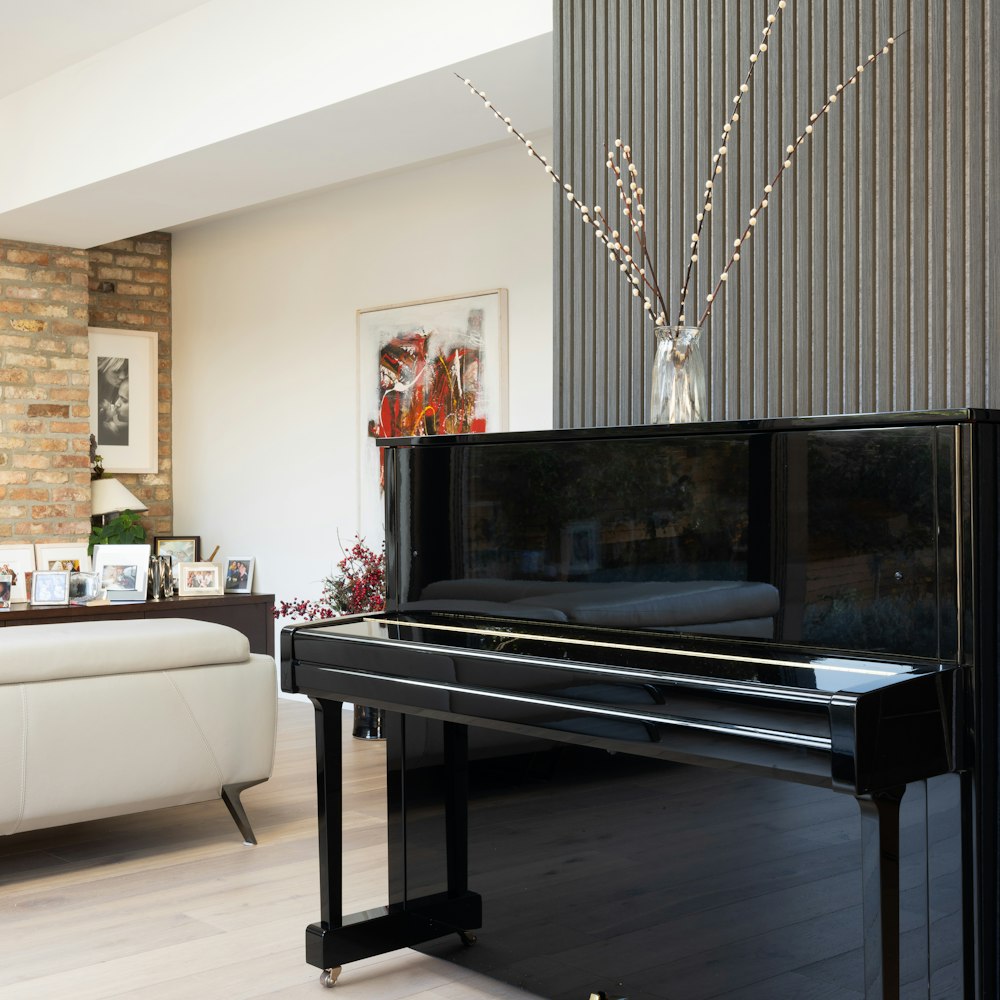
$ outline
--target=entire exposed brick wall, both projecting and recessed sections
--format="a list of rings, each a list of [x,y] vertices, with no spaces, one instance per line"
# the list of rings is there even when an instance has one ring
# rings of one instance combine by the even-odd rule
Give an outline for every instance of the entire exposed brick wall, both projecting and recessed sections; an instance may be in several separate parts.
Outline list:
[[[170,235],[91,250],[0,239],[0,541],[90,533],[88,326],[155,330],[159,471],[115,474],[173,529]]]

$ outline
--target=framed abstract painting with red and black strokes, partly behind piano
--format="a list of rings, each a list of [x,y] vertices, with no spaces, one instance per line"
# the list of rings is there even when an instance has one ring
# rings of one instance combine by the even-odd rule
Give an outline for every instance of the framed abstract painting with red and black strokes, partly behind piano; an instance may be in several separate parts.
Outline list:
[[[507,428],[507,290],[358,310],[359,534],[385,535],[380,437]]]

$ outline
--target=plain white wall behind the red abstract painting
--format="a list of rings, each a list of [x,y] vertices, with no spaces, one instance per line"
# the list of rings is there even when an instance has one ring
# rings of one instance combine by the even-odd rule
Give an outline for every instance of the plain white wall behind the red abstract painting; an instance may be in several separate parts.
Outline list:
[[[510,427],[551,427],[552,185],[513,141],[176,233],[174,530],[317,595],[358,525],[355,310],[496,287]]]

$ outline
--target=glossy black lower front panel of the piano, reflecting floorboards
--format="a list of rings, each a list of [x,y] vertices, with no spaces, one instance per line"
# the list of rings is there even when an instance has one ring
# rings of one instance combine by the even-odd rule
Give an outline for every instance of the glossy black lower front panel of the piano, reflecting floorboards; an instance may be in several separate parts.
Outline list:
[[[475,948],[445,941],[431,954],[553,1000],[597,989],[628,1000],[863,996],[850,796],[577,748],[473,775],[470,888],[483,894],[484,927]],[[943,779],[929,809],[923,786],[904,800],[906,997],[927,997],[928,964],[935,1000],[961,997],[956,796]],[[422,822],[431,837],[438,818],[411,821],[418,878],[433,870]]]

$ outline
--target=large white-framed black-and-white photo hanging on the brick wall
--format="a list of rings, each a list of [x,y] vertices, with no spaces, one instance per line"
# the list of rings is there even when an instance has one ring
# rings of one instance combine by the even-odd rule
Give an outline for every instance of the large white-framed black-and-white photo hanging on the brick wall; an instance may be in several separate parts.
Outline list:
[[[157,337],[91,327],[90,430],[106,472],[157,472]]]

